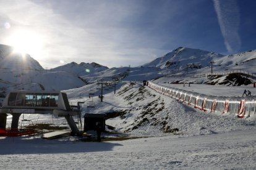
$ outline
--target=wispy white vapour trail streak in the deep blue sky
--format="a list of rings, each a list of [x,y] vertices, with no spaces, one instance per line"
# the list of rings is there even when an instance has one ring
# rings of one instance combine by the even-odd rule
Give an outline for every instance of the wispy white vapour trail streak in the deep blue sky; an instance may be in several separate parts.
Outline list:
[[[238,33],[240,14],[237,1],[213,0],[213,3],[226,49],[228,52],[239,51],[241,39]]]

